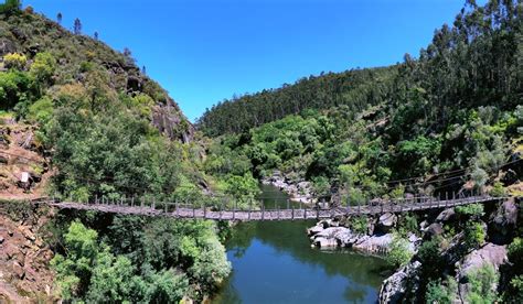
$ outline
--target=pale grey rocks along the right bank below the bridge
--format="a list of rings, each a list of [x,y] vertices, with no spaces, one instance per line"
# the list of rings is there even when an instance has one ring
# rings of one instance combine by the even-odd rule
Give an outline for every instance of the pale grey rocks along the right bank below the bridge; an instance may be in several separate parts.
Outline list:
[[[516,227],[519,207],[514,199],[506,200],[494,208],[490,208],[482,217],[480,227],[485,234],[483,243],[476,249],[463,253],[460,250],[466,242],[463,231],[458,231],[446,248],[440,248],[440,257],[445,267],[439,269],[441,273],[448,274],[457,283],[455,293],[451,295],[452,303],[469,303],[471,293],[470,276],[474,275],[484,265],[492,267],[497,275],[502,275],[503,268],[510,265],[508,258],[508,243]],[[444,236],[445,226],[455,222],[459,215],[455,208],[441,209],[433,214],[418,214],[423,219],[416,225],[417,230],[407,235],[408,250],[413,259],[395,270],[395,272],[383,281],[380,289],[380,303],[417,303],[423,295],[420,279],[423,275],[423,260],[416,254],[424,241],[433,237]],[[365,232],[356,232],[352,222],[356,220],[351,217],[338,217],[320,220],[316,226],[307,229],[311,246],[320,249],[350,248],[365,254],[385,256],[391,250],[395,229],[402,220],[402,215],[384,214],[380,217],[366,218]],[[498,286],[492,286],[495,290]],[[421,290],[423,291],[423,290]]]

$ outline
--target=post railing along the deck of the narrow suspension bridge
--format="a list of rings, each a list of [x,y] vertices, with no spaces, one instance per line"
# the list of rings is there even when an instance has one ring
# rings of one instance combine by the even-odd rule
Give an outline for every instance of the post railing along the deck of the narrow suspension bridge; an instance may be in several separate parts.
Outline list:
[[[290,203],[280,208],[275,202],[275,207],[270,204],[264,205],[262,202],[253,199],[247,207],[238,208],[237,204],[231,200],[205,200],[191,204],[189,199],[175,202],[156,200],[153,197],[94,197],[85,202],[72,202],[74,199],[53,198],[52,203],[63,202],[65,204],[81,203],[85,206],[93,206],[94,209],[131,213],[131,214],[153,214],[169,215],[175,217],[211,218],[211,219],[309,219],[328,218],[337,215],[377,215],[383,213],[416,211],[431,208],[453,207],[472,203],[495,202],[504,197],[494,198],[482,193],[470,193],[470,195],[449,195],[444,198],[433,196],[412,196],[398,199],[380,202],[366,202],[366,204],[353,205],[346,200],[345,205],[338,204],[334,208],[324,208],[314,205],[311,199],[308,204]],[[221,204],[220,204],[221,203]],[[121,208],[126,208],[122,210]]]

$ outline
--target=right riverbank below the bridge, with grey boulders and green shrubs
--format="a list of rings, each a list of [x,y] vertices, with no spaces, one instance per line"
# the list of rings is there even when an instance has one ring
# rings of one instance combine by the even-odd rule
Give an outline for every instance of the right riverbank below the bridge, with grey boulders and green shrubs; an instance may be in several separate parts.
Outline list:
[[[312,247],[408,257],[383,281],[380,303],[470,303],[510,290],[521,199],[380,217],[337,217],[307,229]],[[395,240],[404,240],[398,251]],[[392,252],[394,251],[394,252]],[[515,254],[515,253],[512,253]],[[519,253],[517,253],[519,254]],[[517,258],[519,259],[519,258]],[[441,296],[444,296],[441,298]],[[487,302],[485,302],[487,303]]]

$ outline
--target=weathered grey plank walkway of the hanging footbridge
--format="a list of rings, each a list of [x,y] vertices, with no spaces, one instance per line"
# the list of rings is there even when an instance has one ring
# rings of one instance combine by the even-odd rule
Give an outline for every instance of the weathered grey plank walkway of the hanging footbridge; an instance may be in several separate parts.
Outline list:
[[[469,204],[495,203],[506,197],[472,196],[453,199],[430,199],[421,202],[416,199],[402,199],[382,205],[362,205],[337,207],[332,209],[319,208],[298,208],[298,209],[256,209],[256,210],[215,210],[211,208],[196,208],[179,204],[154,204],[150,206],[125,204],[116,202],[115,204],[86,204],[75,202],[54,202],[43,200],[40,204],[46,204],[61,209],[96,210],[100,213],[113,213],[122,215],[141,216],[167,216],[174,218],[202,218],[212,220],[295,220],[295,219],[322,219],[332,218],[339,215],[380,215],[384,213],[406,213],[427,210],[436,208],[448,208]]]

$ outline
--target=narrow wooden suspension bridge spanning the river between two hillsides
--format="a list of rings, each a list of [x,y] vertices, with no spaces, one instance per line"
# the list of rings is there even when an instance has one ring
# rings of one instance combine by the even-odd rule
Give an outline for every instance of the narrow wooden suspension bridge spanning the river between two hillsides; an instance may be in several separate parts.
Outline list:
[[[227,208],[222,206],[206,207],[198,204],[167,203],[167,202],[137,202],[134,198],[120,199],[94,199],[93,202],[60,202],[56,199],[40,199],[36,204],[44,204],[60,209],[94,210],[99,213],[137,215],[137,216],[166,216],[173,218],[211,219],[211,220],[297,220],[297,219],[323,219],[335,216],[381,215],[385,213],[408,213],[429,210],[437,208],[449,208],[470,204],[498,203],[506,197],[492,197],[489,195],[471,195],[468,197],[437,198],[437,197],[412,197],[386,200],[382,203],[369,202],[365,205],[320,207],[314,204],[300,204],[299,207],[290,205],[287,208],[269,208],[263,204],[250,205],[247,209]]]

